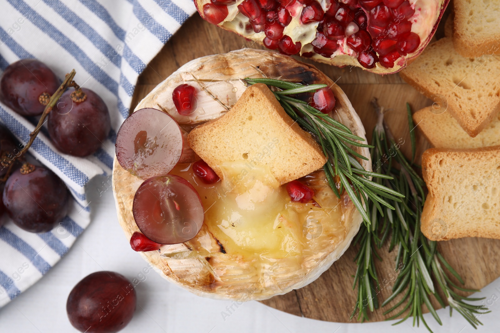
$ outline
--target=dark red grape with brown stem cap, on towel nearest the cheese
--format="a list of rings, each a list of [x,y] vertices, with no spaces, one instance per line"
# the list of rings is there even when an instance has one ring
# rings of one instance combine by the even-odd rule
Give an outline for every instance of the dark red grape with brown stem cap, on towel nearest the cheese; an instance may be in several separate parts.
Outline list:
[[[73,102],[72,89],[65,91],[48,114],[48,134],[60,152],[73,156],[94,153],[106,139],[111,121],[104,101],[92,90],[81,88],[86,98]]]

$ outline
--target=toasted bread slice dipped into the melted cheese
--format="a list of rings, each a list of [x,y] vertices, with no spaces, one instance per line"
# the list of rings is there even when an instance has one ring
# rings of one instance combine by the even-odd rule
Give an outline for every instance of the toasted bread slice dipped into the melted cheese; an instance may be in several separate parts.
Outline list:
[[[319,145],[281,107],[265,84],[248,87],[223,116],[194,128],[189,146],[220,177],[224,162],[263,164],[284,184],[326,163]]]

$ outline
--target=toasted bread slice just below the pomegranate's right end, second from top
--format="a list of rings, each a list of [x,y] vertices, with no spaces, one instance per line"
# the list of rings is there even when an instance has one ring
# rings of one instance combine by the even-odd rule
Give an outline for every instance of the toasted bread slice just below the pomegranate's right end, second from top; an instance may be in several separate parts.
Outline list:
[[[406,69],[401,77],[427,97],[447,102],[447,110],[470,136],[486,127],[500,108],[500,60],[464,58],[451,38],[441,38]]]

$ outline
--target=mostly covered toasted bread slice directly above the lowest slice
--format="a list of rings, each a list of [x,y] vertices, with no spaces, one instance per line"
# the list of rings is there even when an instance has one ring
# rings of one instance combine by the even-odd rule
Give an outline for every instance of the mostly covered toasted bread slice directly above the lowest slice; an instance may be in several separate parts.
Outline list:
[[[448,111],[436,114],[432,106],[413,113],[413,121],[436,148],[464,149],[500,145],[500,114],[474,138],[458,125]]]

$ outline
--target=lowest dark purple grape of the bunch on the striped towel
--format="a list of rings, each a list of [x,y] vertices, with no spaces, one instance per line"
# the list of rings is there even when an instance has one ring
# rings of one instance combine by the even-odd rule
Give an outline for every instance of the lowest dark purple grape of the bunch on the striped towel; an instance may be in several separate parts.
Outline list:
[[[43,166],[34,166],[34,170],[26,174],[20,170],[22,168],[8,177],[3,190],[8,215],[15,225],[26,231],[52,230],[66,216],[69,200],[66,186]]]

